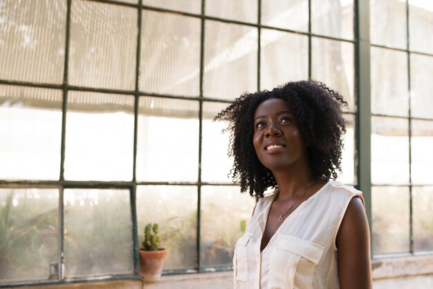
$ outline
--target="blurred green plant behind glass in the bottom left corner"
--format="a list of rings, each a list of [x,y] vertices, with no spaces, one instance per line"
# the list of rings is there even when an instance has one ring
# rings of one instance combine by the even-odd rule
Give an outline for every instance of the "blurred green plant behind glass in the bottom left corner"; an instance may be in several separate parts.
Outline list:
[[[17,194],[14,189],[6,198],[0,194],[0,283],[30,269],[31,277],[40,277],[56,260],[57,208],[42,208],[47,203],[31,203],[25,195],[13,205]]]

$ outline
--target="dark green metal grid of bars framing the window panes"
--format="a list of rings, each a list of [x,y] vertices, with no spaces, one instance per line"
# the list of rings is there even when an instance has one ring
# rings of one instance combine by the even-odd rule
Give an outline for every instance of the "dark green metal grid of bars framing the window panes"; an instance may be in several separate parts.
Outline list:
[[[33,82],[19,82],[10,80],[0,80],[0,84],[9,84],[15,86],[30,86],[39,88],[55,88],[62,90],[63,92],[63,106],[62,106],[62,147],[61,147],[61,160],[60,160],[60,174],[59,180],[53,181],[37,181],[37,180],[22,180],[22,181],[9,181],[0,180],[0,187],[34,187],[34,186],[44,186],[44,187],[57,187],[59,189],[59,279],[53,281],[26,281],[20,283],[3,283],[0,284],[0,288],[4,287],[15,287],[24,285],[41,285],[41,284],[60,284],[60,283],[75,283],[75,282],[86,282],[86,281],[100,281],[100,277],[95,278],[85,278],[85,279],[64,279],[64,205],[63,205],[63,191],[68,188],[110,188],[110,189],[129,189],[130,200],[131,200],[131,215],[133,217],[133,272],[132,275],[119,275],[116,277],[110,277],[105,280],[116,280],[116,279],[139,279],[140,277],[140,265],[138,256],[138,228],[137,228],[137,214],[136,214],[136,189],[138,185],[194,185],[197,187],[198,201],[197,201],[197,239],[196,239],[196,272],[204,272],[201,270],[200,264],[200,230],[201,230],[201,187],[203,185],[234,185],[232,183],[205,183],[201,180],[201,152],[202,152],[202,131],[203,131],[203,102],[226,102],[227,100],[219,100],[216,98],[205,97],[203,95],[203,76],[204,76],[204,48],[205,48],[205,21],[214,20],[220,21],[228,24],[239,24],[243,26],[249,26],[257,28],[258,32],[258,56],[257,56],[257,90],[260,88],[260,37],[261,29],[266,28],[269,30],[279,30],[282,32],[293,32],[298,35],[308,36],[308,77],[311,77],[312,71],[312,61],[311,61],[311,39],[317,37],[320,39],[331,39],[343,42],[349,42],[354,44],[354,96],[356,100],[356,111],[345,111],[352,114],[356,118],[355,127],[355,142],[356,142],[356,156],[355,163],[356,167],[356,187],[360,189],[365,198],[365,207],[367,210],[367,216],[369,218],[369,223],[371,225],[371,97],[370,97],[370,43],[369,37],[369,0],[355,0],[354,7],[354,19],[353,19],[353,30],[354,37],[353,40],[340,39],[335,37],[327,37],[324,35],[315,35],[311,32],[311,1],[308,0],[308,32],[300,32],[295,30],[288,30],[282,28],[275,28],[270,26],[265,26],[261,24],[261,0],[258,1],[258,13],[257,13],[257,24],[247,23],[243,21],[234,21],[231,19],[223,19],[219,17],[210,17],[205,15],[205,0],[201,0],[201,13],[193,14],[189,12],[180,12],[175,10],[155,8],[151,6],[145,6],[142,4],[142,0],[139,0],[137,4],[124,3],[120,1],[110,1],[110,0],[87,0],[98,3],[103,3],[104,5],[116,5],[116,6],[127,6],[131,8],[137,8],[138,10],[138,39],[137,39],[137,49],[136,49],[136,81],[135,89],[133,91],[123,91],[123,90],[112,90],[105,88],[87,88],[82,86],[71,86],[68,84],[68,59],[69,59],[69,41],[70,41],[70,30],[71,30],[71,3],[73,0],[67,0],[67,16],[66,16],[66,43],[65,43],[65,59],[64,59],[64,80],[63,84],[46,84],[46,83],[33,83]],[[160,94],[160,93],[147,93],[145,91],[139,90],[138,76],[140,68],[140,38],[141,38],[141,28],[142,28],[142,11],[143,10],[153,10],[158,12],[165,12],[167,14],[183,15],[187,17],[195,17],[201,19],[201,52],[200,52],[200,75],[199,75],[199,95],[197,97],[182,97],[177,95]],[[407,3],[407,17],[409,15],[409,4]],[[407,52],[408,64],[409,64],[409,21],[407,21],[407,49],[403,50]],[[389,48],[394,49],[394,48]],[[398,49],[397,49],[398,50]],[[423,53],[420,53],[423,54]],[[433,55],[430,55],[433,56]],[[408,66],[408,77],[409,77],[409,91],[410,91],[410,66]],[[135,107],[134,107],[134,136],[133,136],[133,180],[126,182],[106,182],[106,181],[71,181],[64,179],[64,158],[65,158],[65,136],[66,136],[66,110],[67,110],[67,100],[68,91],[89,91],[89,92],[100,92],[100,93],[116,93],[121,95],[134,95],[135,97]],[[138,101],[140,97],[165,97],[172,99],[181,100],[195,100],[199,102],[199,162],[198,167],[198,180],[197,182],[184,182],[184,183],[167,183],[167,182],[138,182],[136,180],[136,154],[137,154],[137,133],[138,133]],[[412,116],[410,115],[409,108],[409,140],[411,136],[410,131],[410,121]],[[409,144],[410,150],[410,144]],[[410,151],[409,151],[410,156]],[[411,159],[409,158],[409,162]],[[410,173],[410,171],[409,171]],[[410,180],[410,178],[409,178]],[[410,236],[411,236],[411,252],[413,252],[413,232],[412,232],[412,184],[410,187]],[[231,270],[231,267],[227,268],[216,268],[216,270]],[[166,271],[166,274],[181,274],[185,273],[185,270],[170,270]]]

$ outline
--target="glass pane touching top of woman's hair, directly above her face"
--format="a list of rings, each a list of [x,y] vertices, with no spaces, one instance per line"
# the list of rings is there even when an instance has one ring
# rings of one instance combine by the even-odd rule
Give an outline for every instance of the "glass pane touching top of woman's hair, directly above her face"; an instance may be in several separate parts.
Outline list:
[[[260,48],[261,90],[308,78],[307,36],[261,29]]]

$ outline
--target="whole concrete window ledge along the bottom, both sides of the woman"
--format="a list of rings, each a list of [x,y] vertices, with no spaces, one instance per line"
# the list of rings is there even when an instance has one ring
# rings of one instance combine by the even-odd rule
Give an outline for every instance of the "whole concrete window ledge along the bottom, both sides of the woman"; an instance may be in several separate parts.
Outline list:
[[[433,254],[376,258],[371,261],[374,288],[433,288]],[[140,280],[92,281],[39,286],[20,289],[231,289],[233,271],[178,274],[163,276],[160,281]],[[412,287],[407,287],[412,284]],[[427,287],[425,287],[427,286]],[[13,289],[13,288],[6,288]]]

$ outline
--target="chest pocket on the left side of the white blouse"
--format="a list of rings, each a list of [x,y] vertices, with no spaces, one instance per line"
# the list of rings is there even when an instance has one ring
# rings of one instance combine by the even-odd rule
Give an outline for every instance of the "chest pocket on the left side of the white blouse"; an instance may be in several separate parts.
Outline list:
[[[248,281],[248,261],[253,261],[254,252],[252,250],[252,245],[248,245],[252,233],[246,232],[237,241],[236,247],[234,248],[234,258],[233,258],[233,268],[234,268],[234,281],[237,283],[245,283]],[[250,249],[248,249],[250,248]],[[251,265],[250,265],[251,267]]]

